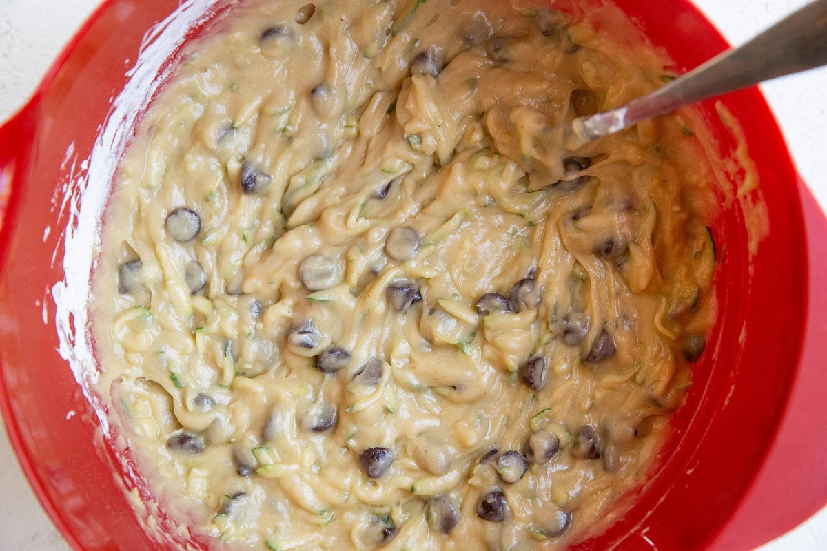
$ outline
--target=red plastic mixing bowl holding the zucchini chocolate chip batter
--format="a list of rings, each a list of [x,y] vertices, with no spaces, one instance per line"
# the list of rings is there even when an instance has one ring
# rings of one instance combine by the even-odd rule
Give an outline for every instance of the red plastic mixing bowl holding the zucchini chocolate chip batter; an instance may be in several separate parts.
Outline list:
[[[193,3],[210,2],[184,6]],[[727,47],[685,0],[616,3],[678,69]],[[142,43],[178,8],[178,0],[105,2],[31,102],[0,127],[0,406],[26,476],[75,549],[179,549],[148,538],[122,491],[123,481],[141,489],[140,480],[104,444],[59,354],[51,292],[66,278],[64,237],[78,222],[69,215],[83,197],[82,161]],[[720,315],[695,384],[651,482],[581,551],[751,549],[827,502],[827,287],[818,284],[827,273],[827,220],[758,90],[722,102],[743,126],[769,234],[751,256],[738,202],[714,221]],[[721,154],[732,154],[736,143],[713,102],[702,108]],[[84,327],[74,338],[84,342]]]

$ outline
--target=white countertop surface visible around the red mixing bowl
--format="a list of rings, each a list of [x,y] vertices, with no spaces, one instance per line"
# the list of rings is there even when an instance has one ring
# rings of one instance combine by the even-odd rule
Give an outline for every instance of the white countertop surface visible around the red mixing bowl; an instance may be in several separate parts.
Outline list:
[[[805,0],[695,0],[730,42],[740,44]],[[0,0],[0,121],[21,107],[52,59],[99,0]],[[827,69],[763,86],[801,175],[827,205]],[[67,551],[0,434],[0,542],[6,551]],[[760,551],[827,549],[827,508]]]

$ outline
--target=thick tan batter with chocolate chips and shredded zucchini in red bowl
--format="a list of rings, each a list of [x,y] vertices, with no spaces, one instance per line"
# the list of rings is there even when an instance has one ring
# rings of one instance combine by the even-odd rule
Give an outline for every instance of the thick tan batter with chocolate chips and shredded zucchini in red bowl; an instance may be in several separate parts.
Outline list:
[[[684,119],[537,150],[668,74],[601,31],[619,17],[252,1],[186,46],[122,159],[92,305],[100,390],[171,516],[273,551],[605,529],[716,310]]]

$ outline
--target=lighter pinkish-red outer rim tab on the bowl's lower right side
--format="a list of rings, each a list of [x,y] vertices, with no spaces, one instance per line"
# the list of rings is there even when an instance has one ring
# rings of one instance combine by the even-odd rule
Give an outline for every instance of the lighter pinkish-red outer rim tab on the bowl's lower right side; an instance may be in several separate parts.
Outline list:
[[[827,217],[800,176],[796,184],[809,237],[803,349],[776,438],[739,507],[710,545],[715,551],[765,544],[827,504],[827,476],[812,476],[824,473],[827,461],[827,286],[820,284],[827,273]]]

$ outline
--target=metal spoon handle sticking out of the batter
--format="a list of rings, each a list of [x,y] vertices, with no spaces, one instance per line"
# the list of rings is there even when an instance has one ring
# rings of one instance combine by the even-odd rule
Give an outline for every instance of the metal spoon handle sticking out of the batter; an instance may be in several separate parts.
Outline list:
[[[771,78],[827,64],[827,0],[792,13],[739,48],[724,51],[653,93],[608,112],[581,116],[563,130],[566,150],[653,116]]]

